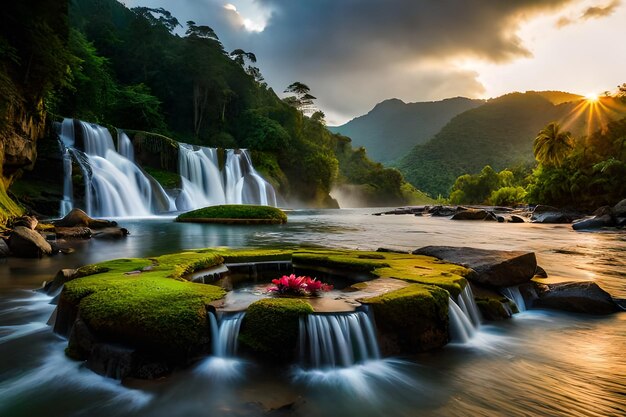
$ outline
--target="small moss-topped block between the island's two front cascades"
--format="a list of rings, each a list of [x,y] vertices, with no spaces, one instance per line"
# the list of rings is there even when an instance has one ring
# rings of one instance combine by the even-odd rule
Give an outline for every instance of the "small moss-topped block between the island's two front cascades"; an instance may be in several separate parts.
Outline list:
[[[248,307],[239,341],[256,356],[289,361],[295,357],[300,317],[311,313],[313,307],[301,299],[257,301]]]

